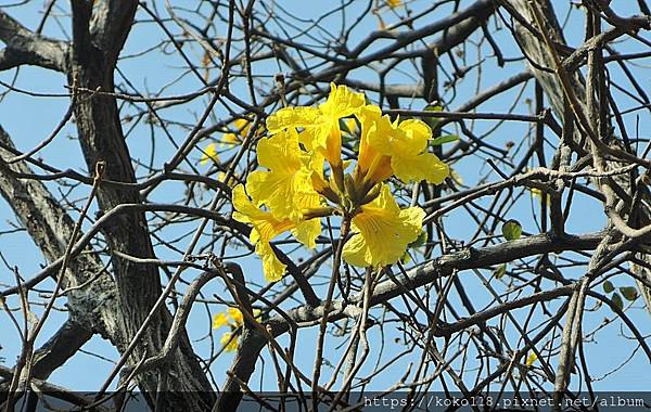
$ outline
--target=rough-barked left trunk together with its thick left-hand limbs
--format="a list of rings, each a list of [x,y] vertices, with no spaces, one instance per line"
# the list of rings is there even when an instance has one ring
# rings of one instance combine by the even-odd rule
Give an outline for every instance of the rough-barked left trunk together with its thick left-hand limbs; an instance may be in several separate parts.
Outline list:
[[[92,2],[73,1],[73,44],[37,36],[15,20],[0,12],[0,40],[7,47],[0,52],[0,69],[21,64],[35,64],[44,68],[64,72],[71,87],[86,87],[113,91],[113,70],[132,24],[137,2],[107,1],[92,9]],[[72,52],[68,52],[72,50]],[[105,178],[120,182],[135,182],[129,152],[122,133],[118,110],[113,98],[95,96],[85,100],[75,107],[75,119],[81,149],[90,170],[98,160],[107,164]],[[3,144],[11,146],[7,133],[0,133]],[[3,153],[3,157],[13,157]],[[2,194],[12,205],[16,216],[27,228],[35,243],[43,250],[48,260],[61,257],[74,226],[47,189],[35,181],[20,181],[13,178],[12,170],[30,172],[24,165],[1,168],[7,179],[2,179]],[[137,190],[116,190],[101,186],[98,193],[100,209],[107,211],[123,203],[140,203]],[[44,224],[43,224],[44,223]],[[153,247],[148,233],[144,213],[133,211],[122,217],[119,222],[104,228],[104,235],[111,252],[120,252],[137,257],[153,257]],[[91,252],[91,250],[89,250]],[[149,313],[161,293],[161,281],[154,266],[133,265],[112,256],[115,281],[102,274],[88,286],[68,294],[71,320],[82,319],[93,332],[110,338],[122,351],[129,344],[140,324]],[[97,255],[84,254],[71,263],[64,287],[79,285],[94,273],[103,271]],[[169,311],[159,313],[152,324],[144,342],[130,358],[135,364],[143,357],[157,353],[171,324]],[[71,330],[62,330],[61,335],[51,342],[68,335]],[[80,332],[86,335],[86,332]],[[69,336],[68,336],[69,337]],[[64,339],[65,340],[65,339]],[[82,339],[76,340],[77,345]],[[50,355],[48,355],[50,353]],[[65,359],[52,359],[44,347],[41,351],[42,369],[39,374],[48,374],[46,365],[56,366]],[[175,351],[167,377],[169,387],[178,390],[178,396],[166,397],[168,410],[205,410],[213,403],[212,387],[183,332],[179,348]],[[158,374],[153,371],[137,376],[144,392],[155,392]],[[201,395],[190,392],[201,391]],[[148,399],[153,404],[153,399]]]

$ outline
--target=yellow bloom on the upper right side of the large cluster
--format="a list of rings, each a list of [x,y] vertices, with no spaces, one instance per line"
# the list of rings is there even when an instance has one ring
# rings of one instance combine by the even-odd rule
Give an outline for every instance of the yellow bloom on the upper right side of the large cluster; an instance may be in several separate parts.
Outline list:
[[[375,170],[372,165],[384,165],[386,157],[382,156],[387,156],[391,157],[393,175],[404,182],[426,180],[441,184],[449,175],[449,167],[435,154],[427,152],[432,129],[421,120],[396,119],[391,123],[387,115],[381,115],[379,107],[371,106],[359,116],[363,129],[362,140],[366,140],[360,144],[359,168],[366,180],[373,183],[384,180],[384,176],[388,173],[386,166]],[[366,155],[363,150],[372,154]]]

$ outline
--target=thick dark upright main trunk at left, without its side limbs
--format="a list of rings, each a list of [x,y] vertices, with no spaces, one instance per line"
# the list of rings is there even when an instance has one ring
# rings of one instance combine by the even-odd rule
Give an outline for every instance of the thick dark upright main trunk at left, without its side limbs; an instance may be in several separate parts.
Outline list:
[[[113,75],[117,55],[130,30],[137,2],[110,1],[92,16],[92,3],[74,1],[73,53],[68,83],[113,92]],[[75,107],[75,118],[84,157],[89,169],[99,160],[106,162],[105,178],[119,182],[136,182],[131,158],[114,98],[97,95]],[[103,211],[125,203],[141,203],[137,189],[124,190],[101,185],[98,203]],[[113,253],[111,261],[116,279],[117,296],[123,308],[125,334],[133,336],[161,294],[161,279],[153,265],[135,265],[116,256],[115,252],[150,258],[154,250],[149,236],[146,219],[142,211],[122,215],[120,220],[104,228],[104,236]],[[145,357],[158,353],[171,326],[167,309],[158,313],[141,344],[129,358],[135,365]],[[176,395],[166,397],[169,410],[205,410],[213,402],[210,384],[202,371],[183,332],[179,347],[168,363],[168,386]],[[137,382],[144,392],[155,392],[158,384],[156,371],[138,375]],[[201,392],[201,395],[191,394]],[[153,398],[148,399],[153,404]]]

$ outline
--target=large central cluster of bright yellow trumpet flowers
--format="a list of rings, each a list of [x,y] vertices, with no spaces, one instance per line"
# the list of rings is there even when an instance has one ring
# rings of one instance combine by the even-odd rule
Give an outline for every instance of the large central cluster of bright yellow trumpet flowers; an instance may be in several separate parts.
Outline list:
[[[359,153],[352,173],[342,159],[342,126],[349,133],[360,125]],[[448,166],[427,152],[430,127],[408,119],[391,121],[362,93],[331,85],[318,107],[285,107],[267,118],[269,137],[257,145],[257,160],[267,170],[252,172],[246,185],[233,190],[233,218],[253,226],[251,242],[261,257],[268,281],[282,278],[285,265],[271,246],[291,232],[308,248],[321,233],[320,218],[342,216],[352,226],[343,258],[358,267],[395,263],[422,232],[424,211],[400,209],[386,180],[442,183]]]

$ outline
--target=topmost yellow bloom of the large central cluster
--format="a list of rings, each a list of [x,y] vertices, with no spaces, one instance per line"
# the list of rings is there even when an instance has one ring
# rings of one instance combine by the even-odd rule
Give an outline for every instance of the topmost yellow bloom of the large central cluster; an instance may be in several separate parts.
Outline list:
[[[363,93],[346,86],[330,85],[330,95],[319,107],[285,107],[267,118],[267,130],[278,133],[288,128],[303,128],[301,143],[308,151],[318,151],[334,168],[341,167],[342,132],[339,120],[365,105]]]

